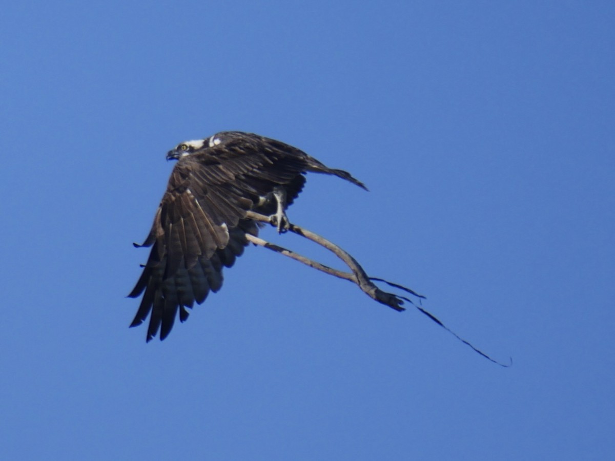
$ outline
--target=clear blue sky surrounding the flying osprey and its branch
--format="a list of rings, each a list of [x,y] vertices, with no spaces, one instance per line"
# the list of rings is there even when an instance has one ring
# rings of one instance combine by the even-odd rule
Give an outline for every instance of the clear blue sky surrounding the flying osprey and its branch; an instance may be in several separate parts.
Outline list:
[[[599,1],[5,4],[2,457],[611,456],[614,23]],[[132,242],[165,152],[219,130],[364,181],[311,175],[289,217],[514,366],[256,247],[146,344]]]

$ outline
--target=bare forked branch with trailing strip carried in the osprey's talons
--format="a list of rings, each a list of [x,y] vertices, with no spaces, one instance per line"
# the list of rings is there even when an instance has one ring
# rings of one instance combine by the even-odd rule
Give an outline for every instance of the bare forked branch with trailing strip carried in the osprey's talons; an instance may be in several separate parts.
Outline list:
[[[265,215],[260,215],[259,213],[255,213],[253,211],[248,211],[247,218],[255,219],[256,221],[260,221],[261,223],[269,223],[275,227],[277,227],[277,224],[278,224],[276,220],[276,215],[265,216]],[[355,283],[357,286],[359,286],[359,288],[363,291],[363,293],[367,294],[367,296],[371,297],[371,299],[374,299],[375,301],[378,301],[381,304],[387,305],[391,307],[392,309],[397,310],[397,312],[402,312],[403,310],[406,310],[405,307],[402,307],[402,304],[404,301],[407,301],[411,305],[416,307],[416,309],[418,309],[419,312],[431,318],[431,320],[437,323],[437,325],[444,328],[446,331],[448,331],[448,333],[452,334],[459,341],[461,341],[462,343],[472,348],[472,350],[482,355],[487,360],[490,360],[493,363],[496,363],[503,367],[509,367],[512,365],[512,358],[510,359],[509,364],[504,364],[497,360],[494,360],[490,356],[486,355],[486,353],[474,347],[474,345],[470,344],[470,342],[460,337],[457,333],[454,333],[454,331],[452,331],[450,328],[448,328],[448,326],[444,325],[442,321],[440,321],[437,317],[435,317],[435,315],[423,309],[423,307],[421,306],[421,299],[425,299],[425,296],[423,296],[422,294],[418,294],[416,293],[416,291],[410,290],[410,288],[406,288],[405,286],[399,285],[397,283],[388,282],[387,280],[384,280],[383,278],[369,277],[365,273],[365,270],[363,270],[363,267],[360,266],[359,262],[357,262],[356,259],[352,258],[350,254],[346,253],[346,251],[342,250],[341,248],[339,248],[339,246],[335,245],[334,243],[329,242],[326,238],[321,237],[320,235],[314,234],[314,232],[311,232],[308,229],[304,229],[303,227],[296,226],[296,224],[289,223],[288,230],[290,230],[290,232],[293,232],[294,234],[301,235],[301,237],[308,238],[308,240],[311,240],[312,242],[317,243],[318,245],[323,246],[324,248],[327,248],[327,250],[331,251],[336,256],[338,256],[339,259],[344,261],[344,263],[346,264],[346,266],[348,266],[351,272],[343,272],[341,270],[332,269],[331,267],[325,266],[324,264],[320,264],[320,262],[314,261],[313,259],[306,258],[305,256],[302,256],[301,254],[295,253],[294,251],[288,250],[287,248],[284,248],[282,246],[275,245],[274,243],[267,242],[266,240],[263,240],[260,237],[255,237],[254,235],[246,234],[246,237],[248,239],[248,242],[252,242],[255,245],[260,245],[260,246],[263,246],[264,248],[268,248],[269,250],[276,251],[277,253],[280,253],[280,254],[284,254],[284,256],[288,256],[288,258],[295,259],[295,261],[303,262],[303,264],[306,264],[306,266],[320,270],[321,272],[325,272],[325,274],[334,275],[335,277],[343,278],[344,280],[348,280],[349,282]],[[378,288],[378,286],[376,286],[373,283],[373,280],[376,280],[377,282],[386,283],[387,285],[392,286],[393,288],[397,288],[399,290],[405,291],[406,293],[409,293],[412,296],[415,296],[418,299],[419,303],[416,304],[410,298],[405,297],[405,296],[398,296],[396,294],[387,293],[386,291],[382,291]]]

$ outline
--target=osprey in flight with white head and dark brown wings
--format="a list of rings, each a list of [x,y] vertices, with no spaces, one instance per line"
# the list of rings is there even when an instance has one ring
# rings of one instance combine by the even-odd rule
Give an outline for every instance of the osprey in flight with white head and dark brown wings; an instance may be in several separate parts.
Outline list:
[[[128,295],[143,299],[130,326],[146,320],[149,342],[160,329],[169,335],[179,312],[201,304],[222,286],[222,269],[231,267],[258,234],[247,218],[252,210],[272,215],[278,232],[288,229],[285,214],[306,181],[305,173],[325,173],[367,190],[343,170],[328,168],[299,149],[253,133],[221,132],[185,141],[167,153],[177,160],[148,237],[152,246],[143,274]]]

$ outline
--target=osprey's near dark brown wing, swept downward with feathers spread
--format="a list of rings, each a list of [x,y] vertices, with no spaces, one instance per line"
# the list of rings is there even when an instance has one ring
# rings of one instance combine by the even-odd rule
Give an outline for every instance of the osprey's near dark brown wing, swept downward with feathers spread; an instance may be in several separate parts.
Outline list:
[[[161,340],[167,337],[178,312],[185,321],[186,307],[205,301],[210,290],[220,290],[222,268],[231,267],[243,253],[247,232],[258,233],[256,224],[244,219],[258,198],[277,184],[303,185],[298,168],[276,168],[277,159],[271,157],[231,145],[177,162],[148,238],[137,245],[152,249],[129,294],[143,294],[130,326],[140,325],[151,313],[147,341],[159,329]]]

